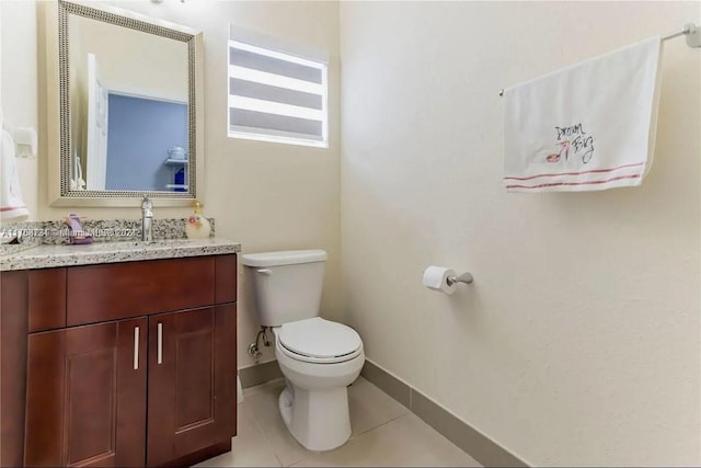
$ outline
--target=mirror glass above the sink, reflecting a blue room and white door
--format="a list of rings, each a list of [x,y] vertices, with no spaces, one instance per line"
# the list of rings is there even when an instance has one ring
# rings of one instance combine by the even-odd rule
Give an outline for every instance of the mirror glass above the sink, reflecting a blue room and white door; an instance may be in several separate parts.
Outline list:
[[[73,191],[187,191],[187,45],[69,15]]]

